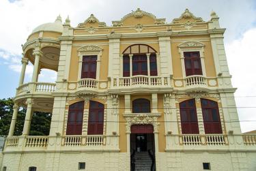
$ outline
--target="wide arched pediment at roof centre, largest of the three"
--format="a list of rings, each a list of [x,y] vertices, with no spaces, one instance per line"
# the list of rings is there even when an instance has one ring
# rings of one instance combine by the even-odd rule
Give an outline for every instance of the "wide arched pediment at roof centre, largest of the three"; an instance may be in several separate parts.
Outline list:
[[[121,20],[112,21],[113,27],[134,25],[164,25],[165,18],[156,18],[153,14],[137,9],[124,16]]]

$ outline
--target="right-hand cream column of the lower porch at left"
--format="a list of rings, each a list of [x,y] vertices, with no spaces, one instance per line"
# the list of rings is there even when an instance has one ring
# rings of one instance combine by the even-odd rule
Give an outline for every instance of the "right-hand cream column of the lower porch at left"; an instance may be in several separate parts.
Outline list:
[[[26,104],[27,104],[27,112],[26,112],[25,122],[23,126],[23,136],[29,135],[29,127],[31,123],[31,112],[32,112],[32,104],[33,104],[32,99],[30,98],[27,99]]]

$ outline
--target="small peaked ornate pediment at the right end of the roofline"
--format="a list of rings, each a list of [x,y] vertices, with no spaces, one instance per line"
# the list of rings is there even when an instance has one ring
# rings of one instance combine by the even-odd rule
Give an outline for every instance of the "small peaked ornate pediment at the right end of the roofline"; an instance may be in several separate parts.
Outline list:
[[[201,17],[194,16],[193,13],[191,13],[188,9],[186,9],[180,18],[174,18],[172,23],[186,23],[186,22],[203,22],[203,19]]]

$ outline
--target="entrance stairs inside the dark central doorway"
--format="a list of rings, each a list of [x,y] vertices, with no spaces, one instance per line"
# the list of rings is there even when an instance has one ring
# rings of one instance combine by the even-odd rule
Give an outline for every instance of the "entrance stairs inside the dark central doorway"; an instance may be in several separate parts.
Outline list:
[[[134,154],[135,159],[135,171],[150,171],[152,165],[152,159],[147,151],[136,152]]]

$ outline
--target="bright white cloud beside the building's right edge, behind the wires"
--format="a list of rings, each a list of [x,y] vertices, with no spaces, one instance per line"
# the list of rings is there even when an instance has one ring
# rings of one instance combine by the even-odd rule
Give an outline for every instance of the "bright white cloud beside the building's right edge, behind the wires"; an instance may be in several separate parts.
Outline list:
[[[240,121],[244,121],[241,123],[242,131],[256,129],[255,39],[256,28],[246,31],[241,39],[226,44],[233,87],[238,88],[235,95]]]

